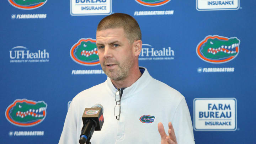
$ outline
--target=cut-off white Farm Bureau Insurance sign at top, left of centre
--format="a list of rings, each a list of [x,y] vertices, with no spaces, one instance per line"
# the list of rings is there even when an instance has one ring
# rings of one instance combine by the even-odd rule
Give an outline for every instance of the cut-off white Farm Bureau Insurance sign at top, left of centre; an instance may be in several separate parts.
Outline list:
[[[70,0],[70,15],[110,15],[112,0]]]

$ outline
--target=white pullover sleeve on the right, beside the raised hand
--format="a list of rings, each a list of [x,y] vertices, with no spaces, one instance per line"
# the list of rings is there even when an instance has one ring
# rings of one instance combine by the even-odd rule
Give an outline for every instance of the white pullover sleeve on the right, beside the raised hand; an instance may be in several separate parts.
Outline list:
[[[193,127],[190,117],[190,112],[185,98],[183,98],[178,105],[172,125],[177,138],[178,144],[194,144]]]

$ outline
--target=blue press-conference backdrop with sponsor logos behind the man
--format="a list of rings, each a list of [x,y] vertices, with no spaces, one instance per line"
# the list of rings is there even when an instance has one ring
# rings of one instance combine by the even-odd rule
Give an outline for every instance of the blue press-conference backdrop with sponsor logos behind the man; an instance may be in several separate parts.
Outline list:
[[[139,65],[185,96],[196,143],[255,143],[256,4],[218,1],[2,0],[0,142],[58,143],[68,102],[106,80],[79,50],[122,12],[142,31]]]

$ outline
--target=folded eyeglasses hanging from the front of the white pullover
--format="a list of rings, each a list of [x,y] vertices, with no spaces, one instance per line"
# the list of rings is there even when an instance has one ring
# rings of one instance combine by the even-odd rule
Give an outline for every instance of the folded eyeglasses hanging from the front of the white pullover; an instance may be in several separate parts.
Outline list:
[[[123,95],[123,90],[125,88],[118,89],[115,94],[115,100],[116,100],[116,106],[114,107],[114,115],[116,116],[116,119],[119,120],[120,113],[121,113],[121,98]]]

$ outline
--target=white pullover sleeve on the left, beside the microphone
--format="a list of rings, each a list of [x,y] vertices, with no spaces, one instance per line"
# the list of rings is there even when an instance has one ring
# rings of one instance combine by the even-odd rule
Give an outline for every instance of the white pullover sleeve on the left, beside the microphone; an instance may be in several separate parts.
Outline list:
[[[79,141],[77,138],[77,116],[73,103],[73,101],[70,103],[59,144],[76,144]]]

